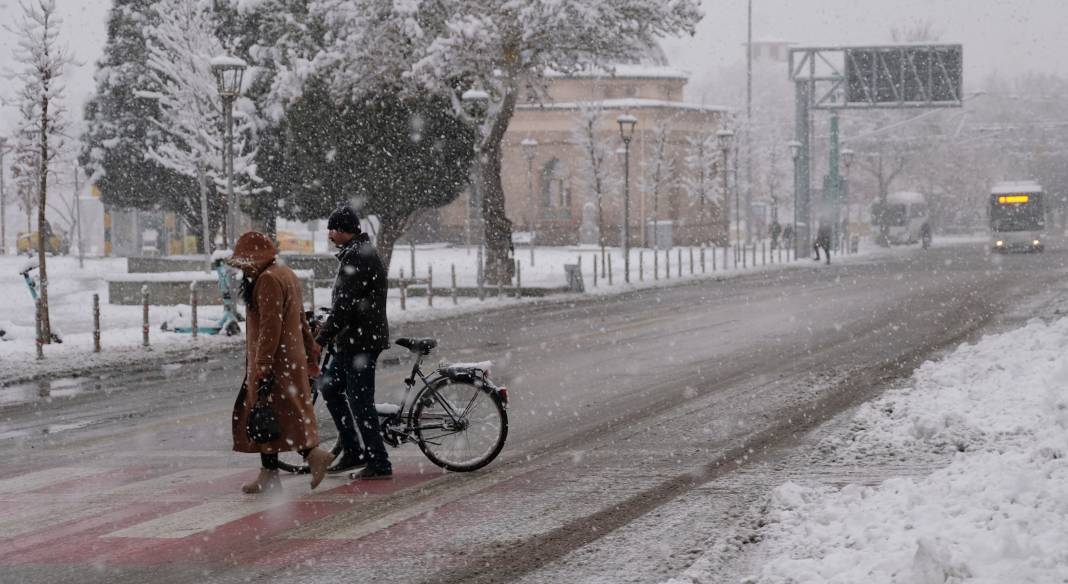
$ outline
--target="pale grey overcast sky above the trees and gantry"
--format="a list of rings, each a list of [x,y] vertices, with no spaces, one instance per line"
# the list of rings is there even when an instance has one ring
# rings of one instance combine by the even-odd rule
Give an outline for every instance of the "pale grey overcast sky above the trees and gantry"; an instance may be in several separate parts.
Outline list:
[[[79,112],[93,91],[93,67],[106,40],[110,0],[59,0],[63,40],[83,65],[70,72],[67,95]],[[705,20],[694,37],[664,42],[673,64],[694,81],[744,59],[744,0],[705,0]],[[0,0],[0,23],[18,13],[16,0]],[[1068,74],[1068,1],[1065,0],[754,0],[754,38],[803,44],[877,44],[890,30],[930,21],[942,42],[964,45],[965,85],[981,85],[991,72]],[[12,34],[0,29],[0,70],[11,69]],[[786,73],[784,72],[785,76]],[[0,80],[0,96],[13,86]],[[9,133],[10,108],[0,111],[0,133]]]

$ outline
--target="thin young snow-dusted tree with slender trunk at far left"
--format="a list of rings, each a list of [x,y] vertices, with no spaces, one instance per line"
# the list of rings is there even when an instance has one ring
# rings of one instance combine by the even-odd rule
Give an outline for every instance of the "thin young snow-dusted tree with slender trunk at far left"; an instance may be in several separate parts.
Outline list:
[[[48,208],[48,164],[63,147],[65,129],[62,105],[63,74],[73,58],[59,43],[62,20],[56,14],[56,0],[19,2],[22,10],[18,23],[10,30],[18,35],[15,61],[21,66],[15,80],[18,90],[20,152],[33,152],[37,180],[37,263],[41,277],[41,327],[45,343],[51,340],[48,317],[48,269],[45,264],[45,237],[50,232],[45,211]],[[29,160],[27,160],[29,162]]]

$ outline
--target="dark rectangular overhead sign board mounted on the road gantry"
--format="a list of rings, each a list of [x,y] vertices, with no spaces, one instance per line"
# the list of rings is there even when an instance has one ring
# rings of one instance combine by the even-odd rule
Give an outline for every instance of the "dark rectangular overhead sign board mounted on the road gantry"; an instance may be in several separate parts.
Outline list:
[[[961,105],[960,45],[844,48],[848,106]]]

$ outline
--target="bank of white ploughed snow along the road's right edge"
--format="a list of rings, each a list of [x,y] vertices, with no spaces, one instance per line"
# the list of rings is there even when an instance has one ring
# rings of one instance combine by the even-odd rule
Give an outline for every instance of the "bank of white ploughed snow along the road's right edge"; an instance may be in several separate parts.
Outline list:
[[[922,478],[772,495],[771,559],[747,582],[1068,581],[1068,319],[926,363],[863,407],[839,457],[952,453]]]

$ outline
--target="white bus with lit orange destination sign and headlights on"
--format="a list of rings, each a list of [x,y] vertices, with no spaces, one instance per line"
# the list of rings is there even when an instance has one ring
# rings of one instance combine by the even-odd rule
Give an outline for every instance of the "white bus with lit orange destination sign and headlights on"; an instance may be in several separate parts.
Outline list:
[[[1042,186],[1033,180],[998,183],[990,189],[990,238],[995,252],[1046,249]]]

